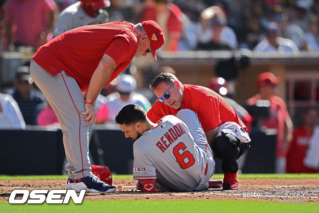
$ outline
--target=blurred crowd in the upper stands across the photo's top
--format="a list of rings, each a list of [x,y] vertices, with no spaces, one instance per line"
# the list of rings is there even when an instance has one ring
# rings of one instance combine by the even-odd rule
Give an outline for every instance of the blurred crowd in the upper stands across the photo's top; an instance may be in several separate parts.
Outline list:
[[[319,51],[319,0],[108,2],[106,8],[93,12],[83,6],[95,20],[86,24],[155,20],[165,33],[161,50]],[[0,0],[0,4],[1,49],[5,51],[19,46],[37,48],[52,39],[58,17],[68,26],[66,30],[80,27],[71,26],[76,21],[67,14],[71,10],[74,14],[80,5],[76,0]],[[59,22],[56,27],[61,30]]]

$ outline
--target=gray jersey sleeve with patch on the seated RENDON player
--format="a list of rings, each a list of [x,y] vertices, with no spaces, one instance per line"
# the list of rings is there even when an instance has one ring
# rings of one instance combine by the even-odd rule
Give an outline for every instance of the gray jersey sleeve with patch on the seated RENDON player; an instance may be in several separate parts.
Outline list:
[[[134,147],[133,180],[156,179],[156,169],[149,152]]]

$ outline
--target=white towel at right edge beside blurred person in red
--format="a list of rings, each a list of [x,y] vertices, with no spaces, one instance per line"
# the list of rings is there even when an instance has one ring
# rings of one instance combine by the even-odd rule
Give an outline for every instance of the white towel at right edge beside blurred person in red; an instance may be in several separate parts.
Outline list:
[[[312,169],[319,169],[319,126],[315,127],[314,133],[309,140],[303,164]]]

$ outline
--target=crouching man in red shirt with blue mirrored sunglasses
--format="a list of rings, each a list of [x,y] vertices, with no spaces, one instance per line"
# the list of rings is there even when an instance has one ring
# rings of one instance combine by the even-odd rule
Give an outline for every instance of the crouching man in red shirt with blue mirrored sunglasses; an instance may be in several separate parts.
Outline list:
[[[236,111],[216,92],[201,86],[183,85],[170,73],[160,73],[150,87],[158,97],[147,113],[150,121],[158,122],[163,116],[176,115],[181,109],[194,111],[214,156],[223,161],[223,189],[237,189],[236,160],[250,147],[250,138]]]

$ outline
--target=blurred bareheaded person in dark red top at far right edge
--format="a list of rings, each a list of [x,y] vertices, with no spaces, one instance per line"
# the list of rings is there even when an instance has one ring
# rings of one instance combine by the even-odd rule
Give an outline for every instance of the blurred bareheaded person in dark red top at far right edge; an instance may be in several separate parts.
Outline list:
[[[309,168],[303,163],[306,152],[309,149],[309,141],[310,138],[313,137],[317,121],[318,109],[310,107],[304,113],[304,123],[293,130],[292,142],[287,152],[287,173],[318,172],[316,169]]]

